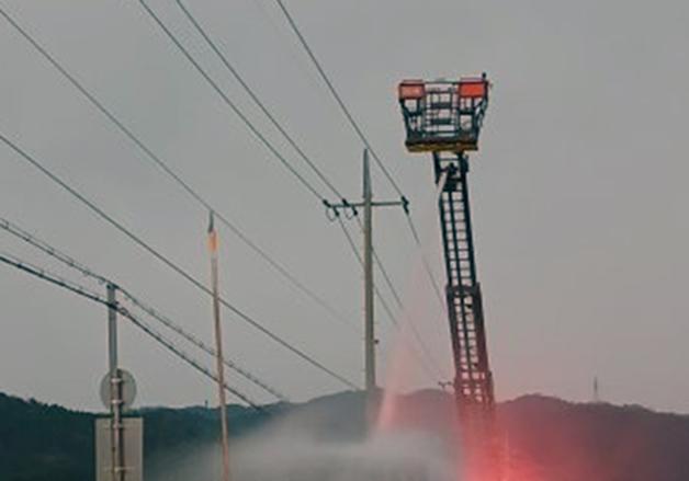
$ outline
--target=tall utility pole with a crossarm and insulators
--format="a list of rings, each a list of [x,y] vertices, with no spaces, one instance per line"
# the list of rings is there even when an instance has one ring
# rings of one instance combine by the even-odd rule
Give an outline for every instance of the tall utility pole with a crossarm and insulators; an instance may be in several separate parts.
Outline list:
[[[373,202],[373,188],[371,171],[369,167],[369,150],[363,151],[363,199],[360,203],[328,204],[336,215],[340,209],[352,209],[357,215],[357,208],[363,208],[363,275],[364,275],[364,373],[365,389],[373,393],[375,382],[375,304],[373,279],[373,207],[402,206],[406,209],[404,201]]]

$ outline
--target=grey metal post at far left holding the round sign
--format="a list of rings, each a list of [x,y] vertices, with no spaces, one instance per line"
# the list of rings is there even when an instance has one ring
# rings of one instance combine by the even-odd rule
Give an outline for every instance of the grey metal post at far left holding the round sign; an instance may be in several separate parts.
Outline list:
[[[117,364],[117,288],[108,284],[108,357],[110,376],[110,436],[112,481],[124,481],[122,376]]]

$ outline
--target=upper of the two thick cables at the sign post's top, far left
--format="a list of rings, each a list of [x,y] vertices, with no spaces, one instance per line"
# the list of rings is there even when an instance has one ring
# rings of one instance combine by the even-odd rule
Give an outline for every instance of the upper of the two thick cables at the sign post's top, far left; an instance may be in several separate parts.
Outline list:
[[[136,298],[128,290],[124,289],[122,286],[112,282],[112,279],[108,279],[106,277],[100,274],[97,274],[93,270],[76,261],[70,255],[59,251],[58,249],[54,248],[49,243],[36,238],[35,236],[31,234],[26,230],[22,229],[21,227],[16,226],[13,222],[10,222],[7,219],[0,218],[0,228],[4,229],[7,232],[11,233],[12,236],[23,240],[24,242],[33,245],[34,248],[41,250],[47,255],[58,260],[59,262],[67,265],[68,267],[71,267],[78,271],[79,273],[81,273],[81,275],[97,280],[101,285],[108,285],[108,284],[116,285],[117,289],[122,293],[122,295],[129,302],[132,302],[135,307],[146,312],[148,316],[156,319],[157,321],[166,325],[168,329],[174,331],[176,333],[184,337],[187,341],[189,341],[190,343],[192,343],[193,345],[195,345],[196,347],[199,347],[206,354],[211,356],[215,356],[215,350],[207,346],[203,341],[201,341],[196,336],[184,331],[179,324],[176,324],[169,318],[165,317],[155,308],[153,308],[150,305],[147,305],[143,300]],[[269,392],[270,394],[275,397],[278,400],[287,401],[287,398],[284,394],[282,394],[275,388],[270,387],[267,382],[262,381],[261,379],[259,379],[258,377],[249,373],[246,368],[242,368],[241,366],[239,366],[237,363],[225,358],[225,365],[229,367],[230,369],[233,369],[234,371],[241,375],[245,379],[248,379],[249,381],[253,382],[256,386],[263,389],[266,392]]]

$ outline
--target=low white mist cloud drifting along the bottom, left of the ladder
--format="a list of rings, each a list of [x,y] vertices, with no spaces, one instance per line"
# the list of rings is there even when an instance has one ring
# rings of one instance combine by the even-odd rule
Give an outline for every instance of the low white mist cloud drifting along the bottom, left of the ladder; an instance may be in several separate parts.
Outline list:
[[[332,420],[302,410],[233,439],[233,481],[456,481],[451,449],[430,433],[398,431],[357,439],[324,431]],[[328,416],[330,417],[330,416]],[[154,481],[216,481],[219,446],[174,454]]]

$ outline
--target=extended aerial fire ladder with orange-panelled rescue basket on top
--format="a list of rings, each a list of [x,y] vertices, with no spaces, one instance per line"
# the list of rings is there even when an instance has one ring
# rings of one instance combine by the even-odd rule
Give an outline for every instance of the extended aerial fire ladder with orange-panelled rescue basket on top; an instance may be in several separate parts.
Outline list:
[[[464,479],[468,481],[501,479],[493,375],[466,180],[467,152],[478,150],[489,88],[485,73],[456,81],[405,80],[398,85],[407,150],[432,154],[440,190],[453,385],[464,446]]]

